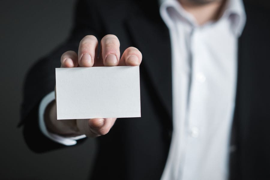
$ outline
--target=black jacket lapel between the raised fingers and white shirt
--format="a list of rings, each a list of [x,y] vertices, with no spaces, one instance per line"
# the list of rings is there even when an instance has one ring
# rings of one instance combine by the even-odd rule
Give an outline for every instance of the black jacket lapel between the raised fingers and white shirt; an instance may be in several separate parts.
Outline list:
[[[141,70],[149,78],[161,106],[172,119],[172,70],[170,35],[166,25],[159,18],[136,16],[126,22],[134,46],[143,54]],[[143,28],[142,28],[143,27]],[[144,70],[145,68],[145,70]]]

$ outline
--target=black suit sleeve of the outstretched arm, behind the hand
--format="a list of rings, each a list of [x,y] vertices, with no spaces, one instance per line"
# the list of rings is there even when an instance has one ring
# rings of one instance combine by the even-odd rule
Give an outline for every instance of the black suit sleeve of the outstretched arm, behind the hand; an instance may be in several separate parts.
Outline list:
[[[48,56],[38,60],[26,75],[18,126],[23,126],[26,144],[34,152],[66,147],[50,140],[41,132],[38,125],[38,107],[41,100],[54,90],[55,68],[60,67],[61,55],[68,50],[77,52],[79,42],[85,35],[95,35],[100,39],[104,34],[101,16],[97,9],[95,1],[78,1],[70,37]],[[77,144],[83,141],[84,139],[77,140]]]

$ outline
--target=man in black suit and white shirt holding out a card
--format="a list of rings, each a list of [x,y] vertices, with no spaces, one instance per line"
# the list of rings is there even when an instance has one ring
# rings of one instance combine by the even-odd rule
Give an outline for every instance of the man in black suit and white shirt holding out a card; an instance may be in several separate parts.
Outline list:
[[[241,0],[79,1],[68,41],[26,78],[26,143],[44,152],[97,137],[91,179],[268,177],[268,23]],[[141,63],[142,117],[56,120],[59,61]]]

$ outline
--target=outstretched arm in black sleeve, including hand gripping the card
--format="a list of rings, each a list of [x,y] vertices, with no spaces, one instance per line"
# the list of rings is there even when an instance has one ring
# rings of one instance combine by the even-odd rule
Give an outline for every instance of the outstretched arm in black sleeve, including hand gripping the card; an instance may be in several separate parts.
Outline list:
[[[24,125],[26,143],[36,152],[64,147],[49,140],[38,128],[37,107],[41,99],[54,89],[55,67],[59,67],[59,60],[63,68],[78,66],[136,66],[140,65],[142,60],[140,51],[134,47],[127,48],[121,57],[119,50],[120,42],[114,35],[106,35],[101,39],[101,52],[100,55],[97,55],[98,38],[102,34],[102,25],[99,22],[102,21],[99,21],[98,12],[95,12],[96,8],[93,4],[89,5],[84,1],[79,1],[78,4],[76,26],[69,41],[53,52],[48,58],[39,61],[30,70],[26,78],[21,124]],[[87,14],[88,12],[91,14]],[[92,25],[95,25],[95,27],[92,27]],[[97,34],[95,32],[100,33]],[[87,36],[78,41],[84,35]],[[77,48],[78,45],[79,48]],[[75,52],[77,49],[78,54]],[[64,53],[61,55],[62,52]],[[64,137],[83,134],[88,137],[98,137],[107,134],[116,121],[116,118],[57,120],[55,101],[52,101],[46,107],[44,119],[49,132]],[[79,143],[82,141],[78,140]]]

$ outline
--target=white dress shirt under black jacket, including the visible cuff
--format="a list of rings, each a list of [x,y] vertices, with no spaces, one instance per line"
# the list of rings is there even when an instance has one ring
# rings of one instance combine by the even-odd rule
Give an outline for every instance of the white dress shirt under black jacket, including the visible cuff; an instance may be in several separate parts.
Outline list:
[[[217,22],[203,26],[177,0],[160,2],[172,47],[173,135],[163,180],[225,180],[228,177],[229,138],[235,105],[237,39],[245,24],[241,0],[229,0]],[[46,106],[39,107],[39,126],[45,136],[74,145],[85,135],[65,138],[47,131]]]

